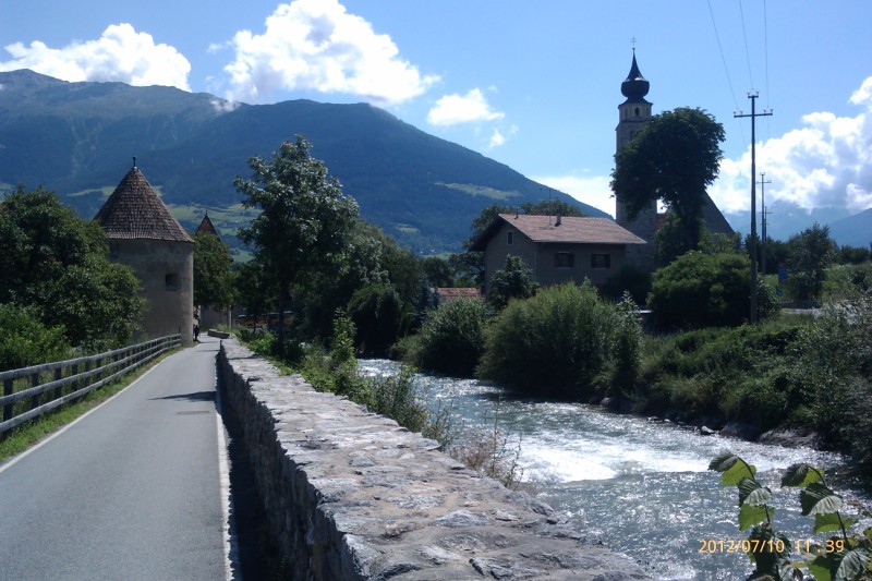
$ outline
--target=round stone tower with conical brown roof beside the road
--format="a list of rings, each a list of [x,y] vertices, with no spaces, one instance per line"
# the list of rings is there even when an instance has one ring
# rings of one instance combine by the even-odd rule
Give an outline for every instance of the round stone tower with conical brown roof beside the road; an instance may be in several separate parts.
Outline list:
[[[181,334],[193,343],[194,241],[136,167],[94,219],[109,239],[109,258],[133,268],[146,300],[148,339]]]

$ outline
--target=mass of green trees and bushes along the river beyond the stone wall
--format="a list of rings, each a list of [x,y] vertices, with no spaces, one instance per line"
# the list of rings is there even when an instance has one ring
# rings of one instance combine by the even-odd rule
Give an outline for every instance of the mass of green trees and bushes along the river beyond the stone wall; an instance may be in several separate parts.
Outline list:
[[[625,269],[618,278],[627,285],[607,292],[589,282],[538,288],[524,262],[509,256],[493,274],[487,301],[439,301],[427,277],[480,286],[481,253],[421,261],[399,249],[358,216],[308,148],[298,137],[271,160],[253,159],[254,178],[238,181],[246,205],[263,214],[245,232],[254,258],[237,278],[247,312],[290,308],[290,325],[264,341],[317,387],[429,429],[415,399],[403,395],[411,372],[384,387],[356,375],[355,356],[391,354],[427,372],[476,376],[534,397],[606,400],[620,411],[748,437],[790,429],[850,452],[872,474],[869,255],[839,254],[825,227],[773,242],[776,274],[761,277],[763,323],[753,326],[744,323],[749,253],[738,237],[705,230],[692,237],[693,250],[661,256],[650,278]],[[486,209],[473,229],[497,211],[506,208]],[[284,220],[280,227],[270,226],[274,214]],[[287,232],[295,233],[274,240]],[[305,232],[304,246],[317,256],[298,255],[294,237]],[[850,261],[834,265],[841,255]],[[787,280],[778,274],[782,261]],[[791,317],[778,312],[776,289],[782,300],[828,306],[818,317]],[[650,307],[644,326],[633,295]]]

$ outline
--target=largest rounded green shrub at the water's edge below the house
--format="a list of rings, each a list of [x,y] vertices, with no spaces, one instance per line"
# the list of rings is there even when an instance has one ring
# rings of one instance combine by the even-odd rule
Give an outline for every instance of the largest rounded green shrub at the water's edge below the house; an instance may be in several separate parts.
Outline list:
[[[482,377],[534,392],[589,396],[608,361],[614,307],[590,282],[513,301],[488,328]]]

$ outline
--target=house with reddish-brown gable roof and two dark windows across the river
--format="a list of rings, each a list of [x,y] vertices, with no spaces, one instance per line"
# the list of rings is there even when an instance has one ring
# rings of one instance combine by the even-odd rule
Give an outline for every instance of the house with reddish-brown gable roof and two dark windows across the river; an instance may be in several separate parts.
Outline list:
[[[500,214],[471,250],[485,256],[485,294],[506,257],[520,256],[543,287],[589,279],[604,285],[645,241],[607,218]]]

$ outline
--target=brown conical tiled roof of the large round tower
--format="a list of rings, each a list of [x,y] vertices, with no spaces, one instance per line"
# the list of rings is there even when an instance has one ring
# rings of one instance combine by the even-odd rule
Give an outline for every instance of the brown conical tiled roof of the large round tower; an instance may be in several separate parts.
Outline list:
[[[110,239],[193,242],[135,166],[94,219]]]

